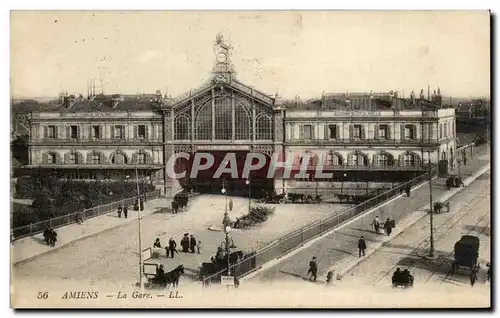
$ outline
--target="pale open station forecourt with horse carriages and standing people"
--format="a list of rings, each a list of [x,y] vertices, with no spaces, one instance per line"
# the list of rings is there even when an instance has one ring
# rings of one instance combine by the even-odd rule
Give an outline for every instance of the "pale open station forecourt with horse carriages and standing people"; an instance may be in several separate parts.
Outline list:
[[[234,210],[229,214],[232,219],[248,209],[247,199],[233,198],[233,201]],[[348,207],[348,205],[314,205],[312,208],[310,205],[279,205],[276,207],[275,215],[267,222],[248,230],[235,230],[232,236],[238,247],[249,250]],[[215,254],[216,247],[222,242],[224,235],[208,228],[221,223],[223,212],[224,197],[215,195],[193,199],[190,210],[185,213],[177,215],[153,213],[145,217],[142,222],[143,248],[151,246],[156,237],[160,237],[163,245],[173,237],[179,245],[183,233],[194,233],[197,239],[202,241],[201,254],[180,253],[173,260],[164,257],[159,260],[167,270],[184,264],[187,269],[185,278],[189,279],[190,275],[195,274],[201,262],[210,260]],[[102,217],[116,218],[113,214]],[[51,281],[52,284],[57,282],[70,284],[73,287],[75,282],[83,286],[88,284],[130,286],[138,280],[137,251],[138,224],[130,222],[15,265],[13,276],[17,282],[30,285],[43,285]]]

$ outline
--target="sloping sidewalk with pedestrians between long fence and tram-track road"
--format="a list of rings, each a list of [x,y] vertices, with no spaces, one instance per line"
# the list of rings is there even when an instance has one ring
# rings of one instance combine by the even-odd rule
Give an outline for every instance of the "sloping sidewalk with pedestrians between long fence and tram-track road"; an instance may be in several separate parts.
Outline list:
[[[468,161],[467,166],[461,167],[461,176],[467,185],[471,182],[470,177],[481,168],[489,165],[490,158],[486,147],[476,148],[474,158]],[[444,201],[445,196],[450,197],[460,189],[445,189],[445,179],[434,179],[432,182],[433,201]],[[364,236],[370,249],[381,246],[388,239],[387,236],[376,234],[371,225],[376,215],[383,221],[390,217],[396,220],[396,232],[398,229],[411,224],[408,219],[413,215],[414,218],[421,218],[425,215],[424,209],[429,202],[429,185],[426,184],[411,192],[410,197],[400,197],[385,206],[382,206],[374,212],[364,214],[358,219],[345,224],[340,229],[327,235],[326,237],[311,244],[309,247],[297,250],[292,256],[282,257],[282,261],[268,269],[251,274],[247,279],[261,282],[270,282],[272,280],[297,280],[306,279],[306,273],[309,268],[309,261],[313,256],[317,257],[319,280],[324,279],[329,270],[335,270],[340,276],[350,268],[359,263],[357,241],[360,236]],[[453,207],[451,207],[453,209]],[[394,235],[395,233],[393,233]]]

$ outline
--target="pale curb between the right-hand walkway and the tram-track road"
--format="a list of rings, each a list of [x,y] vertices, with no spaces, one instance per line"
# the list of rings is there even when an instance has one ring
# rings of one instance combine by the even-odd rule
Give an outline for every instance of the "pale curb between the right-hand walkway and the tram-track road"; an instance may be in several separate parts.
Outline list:
[[[475,174],[473,174],[472,176],[470,176],[469,178],[467,178],[464,181],[464,185],[468,186],[469,184],[471,184],[472,182],[474,182],[477,178],[479,178],[480,176],[482,176],[483,174],[485,174],[488,170],[490,170],[490,164],[487,164],[487,165],[483,166]],[[455,188],[455,189],[451,190],[450,192],[448,192],[448,193],[444,194],[443,196],[441,196],[439,198],[439,200],[436,200],[435,202],[437,202],[437,201],[447,201],[450,198],[452,198],[453,196],[455,196],[456,194],[458,194],[460,191],[462,191],[462,189],[464,189],[464,187],[462,187],[462,188]],[[424,210],[424,211],[427,210],[427,209],[429,209],[429,204],[426,204],[425,206],[423,206],[421,208],[421,210]],[[350,261],[351,264],[346,265],[345,268],[343,268],[342,270],[340,270],[339,272],[337,272],[337,280],[341,280],[342,277],[345,274],[347,274],[349,271],[351,271],[359,263],[363,262],[368,257],[370,257],[371,255],[375,254],[380,248],[384,247],[384,245],[387,242],[390,242],[391,240],[393,240],[396,237],[398,237],[399,235],[401,235],[406,229],[408,229],[409,227],[411,227],[412,225],[414,225],[415,223],[417,223],[419,220],[421,220],[422,218],[424,218],[426,215],[428,215],[428,212],[417,212],[417,213],[414,213],[412,216],[407,217],[405,219],[405,221],[402,222],[405,225],[401,226],[401,227],[398,227],[398,230],[394,231],[394,235],[387,236],[386,239],[384,239],[384,240],[382,240],[382,241],[380,241],[378,243],[375,243],[374,244],[375,247],[372,248],[372,249],[370,249],[370,252],[367,252],[364,257],[358,258],[355,261]],[[338,268],[339,266],[337,265],[335,267]],[[331,270],[334,270],[334,268],[332,267],[332,268],[330,268],[328,270],[331,271]]]

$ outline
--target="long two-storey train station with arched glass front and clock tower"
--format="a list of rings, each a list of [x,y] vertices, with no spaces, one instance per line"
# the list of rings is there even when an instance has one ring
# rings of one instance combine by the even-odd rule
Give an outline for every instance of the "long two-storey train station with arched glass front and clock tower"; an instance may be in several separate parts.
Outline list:
[[[175,161],[182,179],[169,177],[176,153],[210,153],[220,165],[227,153],[238,171],[248,153],[269,161],[250,174],[254,187],[337,187],[341,182],[400,182],[440,163],[456,164],[455,110],[444,108],[439,91],[403,98],[388,93],[324,93],[308,101],[283,100],[238,80],[231,48],[218,37],[210,80],[176,98],[151,95],[61,94],[29,115],[28,169],[45,169],[62,178],[147,179],[177,191],[217,185],[221,179],[243,186],[246,178],[213,169],[189,177],[192,160]],[[271,158],[293,158],[292,173],[278,169],[267,178]],[[307,163],[303,162],[304,154]],[[194,156],[191,156],[194,157]],[[295,178],[300,167],[331,173],[328,178]],[[170,167],[171,168],[171,167]],[[375,185],[376,186],[376,185]]]

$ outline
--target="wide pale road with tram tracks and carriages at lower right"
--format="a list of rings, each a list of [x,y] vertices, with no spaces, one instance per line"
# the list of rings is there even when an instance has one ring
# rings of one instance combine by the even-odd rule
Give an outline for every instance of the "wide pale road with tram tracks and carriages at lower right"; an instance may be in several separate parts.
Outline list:
[[[470,290],[469,271],[461,269],[455,275],[450,273],[454,244],[462,235],[480,238],[479,262],[482,269],[475,287],[488,287],[485,265],[490,261],[490,176],[490,173],[482,175],[453,197],[450,200],[454,207],[451,213],[435,216],[436,260],[422,257],[427,254],[430,244],[429,218],[425,217],[344,275],[339,287],[363,284],[390,288],[392,273],[400,267],[409,269],[415,277],[415,289],[429,284],[439,288],[466,287]]]

